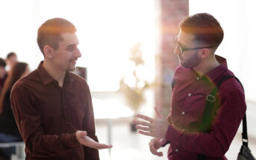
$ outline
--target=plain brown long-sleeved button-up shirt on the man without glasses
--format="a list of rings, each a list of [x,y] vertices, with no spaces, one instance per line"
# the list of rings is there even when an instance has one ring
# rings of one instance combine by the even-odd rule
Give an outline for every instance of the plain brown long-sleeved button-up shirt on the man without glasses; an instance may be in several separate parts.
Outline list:
[[[83,78],[66,72],[61,88],[42,62],[13,86],[10,100],[26,160],[99,159],[98,150],[82,146],[75,137],[77,130],[85,130],[98,141],[90,89]]]

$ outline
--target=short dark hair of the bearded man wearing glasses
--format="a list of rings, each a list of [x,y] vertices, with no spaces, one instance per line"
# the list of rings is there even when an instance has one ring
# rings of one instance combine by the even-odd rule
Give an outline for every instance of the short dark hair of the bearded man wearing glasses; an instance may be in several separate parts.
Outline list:
[[[179,28],[195,35],[195,40],[218,48],[224,32],[219,22],[209,13],[197,13],[184,19]]]

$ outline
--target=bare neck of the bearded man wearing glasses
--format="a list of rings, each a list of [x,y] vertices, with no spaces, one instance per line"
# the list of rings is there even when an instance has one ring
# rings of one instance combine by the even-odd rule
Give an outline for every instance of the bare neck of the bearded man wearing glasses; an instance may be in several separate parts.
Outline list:
[[[207,74],[209,71],[213,70],[219,65],[219,62],[216,60],[215,57],[202,60],[202,62],[199,65],[196,65],[193,70],[196,71],[200,77],[202,77],[204,74]]]

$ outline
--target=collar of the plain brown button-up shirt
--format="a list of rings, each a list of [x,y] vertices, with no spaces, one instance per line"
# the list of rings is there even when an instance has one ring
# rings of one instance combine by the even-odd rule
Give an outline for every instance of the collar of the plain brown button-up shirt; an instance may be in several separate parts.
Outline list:
[[[43,85],[51,83],[52,81],[55,81],[57,83],[57,80],[54,80],[54,78],[51,77],[51,75],[46,71],[46,69],[43,68],[43,61],[41,61],[38,65],[37,71],[41,77],[41,80],[43,81]],[[66,71],[64,83],[69,83],[70,80],[72,81],[72,77],[70,76],[69,71]]]

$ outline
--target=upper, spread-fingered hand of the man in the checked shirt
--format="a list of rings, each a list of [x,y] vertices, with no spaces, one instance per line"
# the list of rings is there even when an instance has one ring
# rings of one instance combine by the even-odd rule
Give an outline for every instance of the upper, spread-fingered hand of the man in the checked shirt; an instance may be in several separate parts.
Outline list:
[[[158,112],[158,109],[155,107],[159,119],[149,118],[146,115],[137,115],[137,118],[141,118],[145,121],[133,121],[136,125],[139,133],[142,135],[149,135],[155,138],[165,138],[166,132],[169,127],[169,122],[164,118],[163,113]]]

